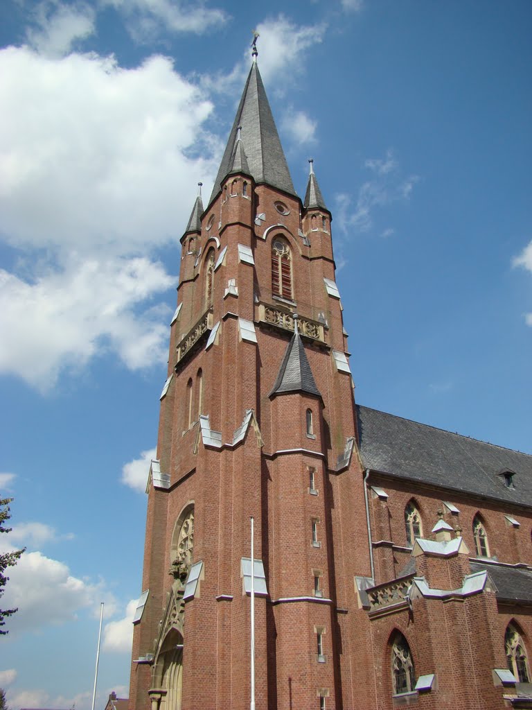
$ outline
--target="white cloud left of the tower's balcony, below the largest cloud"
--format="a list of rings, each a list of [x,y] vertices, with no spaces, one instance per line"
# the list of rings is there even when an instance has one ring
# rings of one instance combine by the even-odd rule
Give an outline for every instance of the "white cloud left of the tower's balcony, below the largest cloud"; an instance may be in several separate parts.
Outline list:
[[[147,258],[74,262],[35,283],[0,270],[0,372],[47,391],[62,368],[84,366],[102,349],[132,370],[164,362],[166,324],[138,307],[173,283]]]

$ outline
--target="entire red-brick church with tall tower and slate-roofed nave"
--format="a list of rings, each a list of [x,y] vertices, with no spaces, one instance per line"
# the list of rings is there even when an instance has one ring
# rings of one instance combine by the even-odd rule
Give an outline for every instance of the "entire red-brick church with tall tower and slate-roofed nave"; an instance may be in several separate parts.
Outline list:
[[[532,708],[532,456],[355,402],[332,217],[254,47],[181,239],[130,710]]]

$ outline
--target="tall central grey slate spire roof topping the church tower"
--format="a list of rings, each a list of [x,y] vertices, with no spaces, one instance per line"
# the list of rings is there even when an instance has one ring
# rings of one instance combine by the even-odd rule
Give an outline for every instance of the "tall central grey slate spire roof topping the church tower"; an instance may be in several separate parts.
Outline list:
[[[266,183],[277,187],[290,195],[296,195],[292,178],[288,170],[287,159],[284,157],[279,133],[272,116],[264,84],[257,67],[253,62],[244,92],[236,111],[235,121],[226,151],[223,153],[218,175],[209,203],[221,190],[221,183],[233,169],[232,158],[237,142],[238,126],[242,129],[241,142],[245,157],[248,160],[249,174],[257,183]]]

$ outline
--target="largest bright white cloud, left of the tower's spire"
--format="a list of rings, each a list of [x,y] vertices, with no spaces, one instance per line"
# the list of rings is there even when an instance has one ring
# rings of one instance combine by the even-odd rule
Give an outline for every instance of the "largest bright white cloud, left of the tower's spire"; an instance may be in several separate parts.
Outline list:
[[[181,236],[197,180],[218,167],[203,129],[212,104],[168,58],[126,70],[113,58],[9,47],[0,104],[1,231],[12,246],[164,244]]]

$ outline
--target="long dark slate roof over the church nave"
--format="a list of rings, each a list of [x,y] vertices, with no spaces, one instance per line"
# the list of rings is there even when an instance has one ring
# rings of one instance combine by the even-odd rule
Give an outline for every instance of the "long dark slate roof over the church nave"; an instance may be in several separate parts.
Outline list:
[[[389,476],[532,506],[532,456],[418,422],[357,407],[365,469]],[[515,488],[504,484],[512,471]]]

